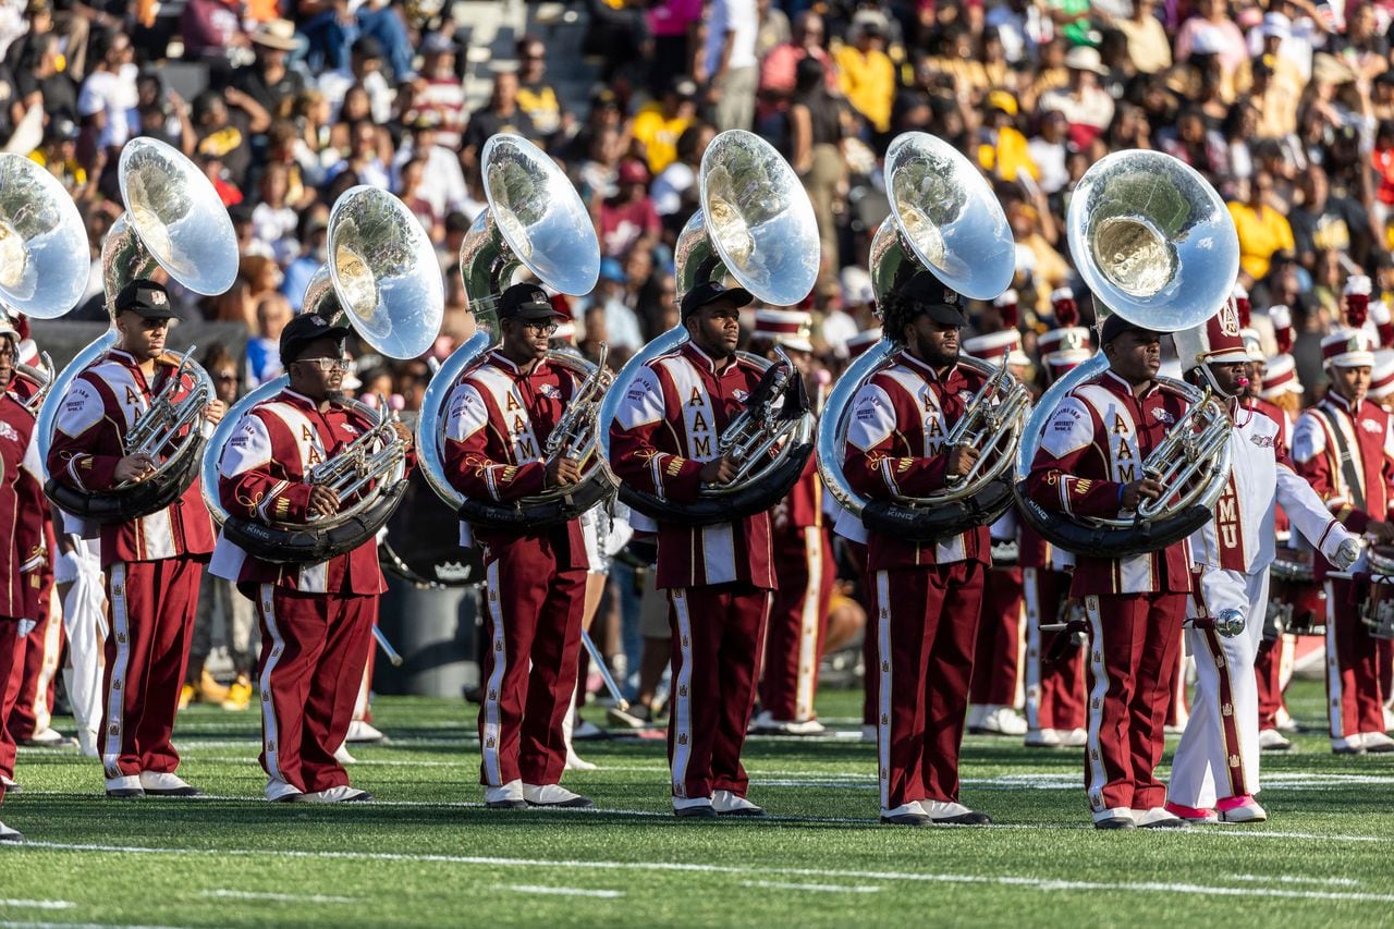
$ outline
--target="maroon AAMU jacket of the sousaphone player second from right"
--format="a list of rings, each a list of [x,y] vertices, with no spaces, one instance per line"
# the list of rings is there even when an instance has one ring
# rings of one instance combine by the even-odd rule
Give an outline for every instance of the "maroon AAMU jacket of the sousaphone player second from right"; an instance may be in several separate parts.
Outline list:
[[[895,354],[889,367],[861,385],[852,400],[843,470],[853,490],[873,499],[895,495],[923,498],[947,487],[945,439],[986,378],[955,365],[944,379],[909,352]],[[988,527],[977,526],[940,543],[917,544],[868,533],[867,571],[987,564]]]

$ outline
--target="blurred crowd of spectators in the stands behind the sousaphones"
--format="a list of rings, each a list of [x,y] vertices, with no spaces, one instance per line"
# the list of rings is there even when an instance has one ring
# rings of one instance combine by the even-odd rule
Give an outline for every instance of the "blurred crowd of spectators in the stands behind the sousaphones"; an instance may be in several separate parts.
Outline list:
[[[1062,289],[1090,318],[1066,209],[1118,149],[1168,152],[1220,191],[1253,325],[1274,354],[1291,319],[1309,392],[1348,278],[1372,279],[1376,322],[1394,301],[1394,0],[573,0],[574,20],[548,6],[562,4],[530,6],[537,32],[500,50],[454,18],[478,4],[0,1],[0,142],[46,165],[88,225],[75,315],[103,318],[120,151],[152,135],[201,166],[233,218],[236,286],[180,300],[245,326],[243,389],[279,374],[276,339],[354,184],[392,190],[436,244],[442,358],[474,328],[459,248],[487,208],[484,144],[507,131],[555,156],[590,211],[604,261],[594,293],[567,301],[569,338],[592,357],[606,342],[618,367],[676,322],[673,246],[728,128],[769,139],[814,205],[821,273],[803,308],[827,375],[877,325],[867,251],[888,213],[881,159],[906,130],[949,141],[993,183],[1018,312],[977,305],[973,326],[1018,325],[1032,358]],[[562,22],[579,42],[553,42]],[[184,99],[176,82],[202,89]],[[365,357],[354,377],[410,411],[429,368]]]

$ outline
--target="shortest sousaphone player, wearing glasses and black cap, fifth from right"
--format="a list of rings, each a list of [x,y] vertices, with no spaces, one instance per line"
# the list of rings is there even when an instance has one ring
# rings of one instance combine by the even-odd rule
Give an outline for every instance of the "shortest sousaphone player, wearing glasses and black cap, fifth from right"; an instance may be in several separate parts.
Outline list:
[[[219,460],[219,498],[229,515],[305,523],[353,501],[311,484],[311,469],[372,428],[337,403],[348,370],[348,329],[304,314],[280,333],[290,384],[247,410]],[[397,435],[411,442],[401,423]],[[408,463],[410,463],[408,455]],[[256,558],[219,536],[210,573],[237,583],[261,624],[262,752],[266,799],[343,803],[372,799],[348,785],[335,757],[348,732],[354,696],[372,647],[372,621],[388,589],[372,540],[314,565]]]

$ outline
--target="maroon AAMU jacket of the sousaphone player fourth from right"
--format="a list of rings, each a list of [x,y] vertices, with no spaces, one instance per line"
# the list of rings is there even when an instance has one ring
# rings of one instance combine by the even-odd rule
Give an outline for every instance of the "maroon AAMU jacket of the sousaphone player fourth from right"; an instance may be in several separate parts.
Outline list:
[[[466,497],[510,502],[541,492],[546,485],[542,449],[566,405],[576,393],[576,378],[563,367],[539,360],[528,374],[489,353],[460,379],[447,402],[445,473]],[[471,527],[484,545],[506,544],[514,536]],[[535,533],[528,533],[533,536]],[[580,519],[544,530],[566,568],[585,568]]]

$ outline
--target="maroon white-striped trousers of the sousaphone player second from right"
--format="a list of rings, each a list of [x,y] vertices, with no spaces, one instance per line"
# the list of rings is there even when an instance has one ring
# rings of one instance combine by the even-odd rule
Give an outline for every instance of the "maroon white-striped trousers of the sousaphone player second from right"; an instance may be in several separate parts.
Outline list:
[[[958,799],[984,573],[960,561],[874,575],[882,809]]]

